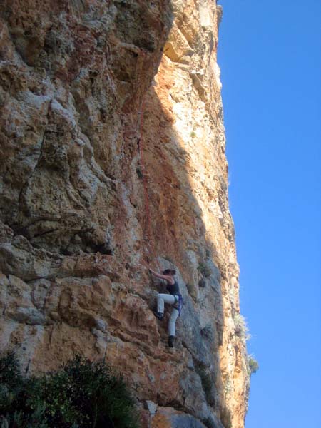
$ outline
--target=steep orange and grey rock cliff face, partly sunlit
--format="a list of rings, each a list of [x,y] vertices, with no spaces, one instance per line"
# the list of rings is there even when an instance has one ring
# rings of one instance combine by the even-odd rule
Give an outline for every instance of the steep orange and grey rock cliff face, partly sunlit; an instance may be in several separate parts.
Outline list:
[[[27,372],[105,359],[142,427],[244,426],[220,16],[213,0],[0,8],[0,348]],[[148,265],[178,272],[174,350]]]

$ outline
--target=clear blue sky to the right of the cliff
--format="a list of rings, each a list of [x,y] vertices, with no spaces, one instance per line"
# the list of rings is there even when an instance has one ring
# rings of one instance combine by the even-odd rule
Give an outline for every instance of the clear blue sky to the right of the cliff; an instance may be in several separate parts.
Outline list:
[[[220,0],[251,380],[245,428],[321,427],[321,2]]]

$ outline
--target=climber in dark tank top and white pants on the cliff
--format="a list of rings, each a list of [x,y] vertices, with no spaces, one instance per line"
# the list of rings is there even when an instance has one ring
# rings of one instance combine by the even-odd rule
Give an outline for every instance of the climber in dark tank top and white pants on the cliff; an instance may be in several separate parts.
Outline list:
[[[163,270],[163,273],[155,272],[154,270],[149,269],[149,271],[161,280],[167,282],[167,290],[169,294],[157,295],[157,312],[154,312],[154,315],[158,320],[163,320],[164,317],[164,303],[168,303],[173,306],[172,312],[170,314],[170,320],[168,322],[168,346],[173,347],[176,337],[176,328],[175,322],[178,315],[180,315],[180,310],[182,309],[183,298],[180,294],[180,289],[178,287],[178,282],[175,280],[176,271],[173,269]]]

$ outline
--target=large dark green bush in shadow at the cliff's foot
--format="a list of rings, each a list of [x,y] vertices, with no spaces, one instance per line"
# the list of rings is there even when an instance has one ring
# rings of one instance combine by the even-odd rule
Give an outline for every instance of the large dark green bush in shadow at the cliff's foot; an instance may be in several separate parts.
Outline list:
[[[12,353],[1,357],[0,414],[9,428],[138,428],[123,378],[103,362],[82,357],[30,378],[21,376]]]

